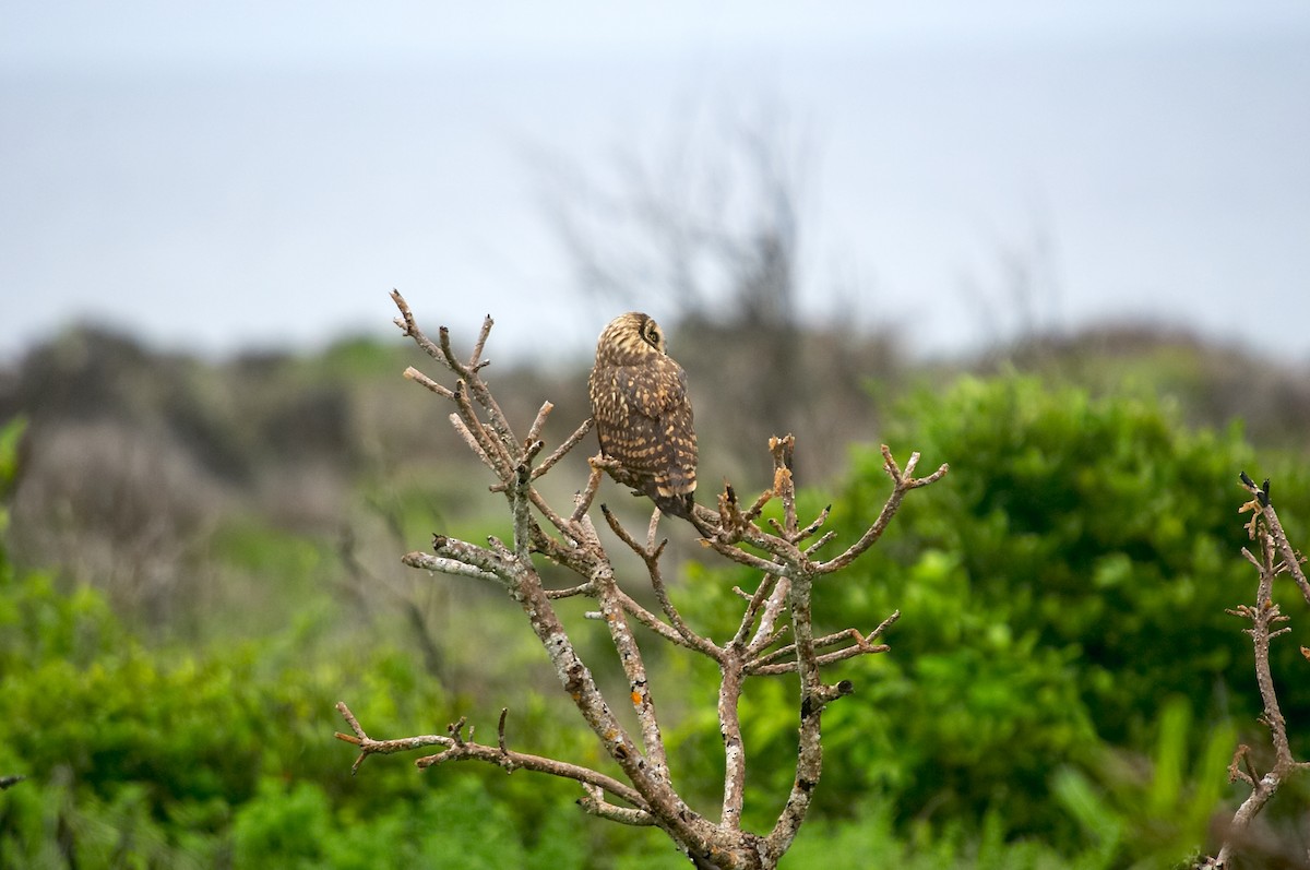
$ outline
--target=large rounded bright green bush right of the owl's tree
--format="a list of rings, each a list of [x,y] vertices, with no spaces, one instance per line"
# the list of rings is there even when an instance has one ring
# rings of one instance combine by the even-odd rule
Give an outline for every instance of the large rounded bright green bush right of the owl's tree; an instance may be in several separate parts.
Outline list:
[[[1250,641],[1225,613],[1255,591],[1237,515],[1237,473],[1255,474],[1255,460],[1239,431],[1188,431],[1153,397],[1093,400],[1026,377],[964,379],[895,418],[887,440],[901,463],[918,449],[920,473],[951,470],[816,590],[816,624],[831,630],[903,613],[889,654],[832,675],[857,694],[825,713],[820,808],[845,811],[825,794],[876,794],[899,831],[937,819],[982,836],[993,819],[1006,839],[1090,842],[1111,863],[1142,841],[1175,857],[1201,846],[1233,727],[1254,731],[1260,709]],[[1310,481],[1275,481],[1280,510],[1310,516]],[[857,449],[829,546],[855,540],[888,491],[880,452]],[[714,634],[734,609],[728,590],[755,578],[707,570],[694,582],[694,618],[718,621]],[[1276,645],[1275,679],[1284,711],[1305,722],[1296,652]],[[790,722],[794,683],[778,687],[749,687],[753,717]],[[1200,725],[1183,725],[1192,715]],[[753,769],[781,770],[752,784],[762,820],[794,736],[745,727]],[[1146,773],[1125,776],[1124,753],[1149,757]],[[1079,793],[1099,795],[1114,824],[1095,824]]]

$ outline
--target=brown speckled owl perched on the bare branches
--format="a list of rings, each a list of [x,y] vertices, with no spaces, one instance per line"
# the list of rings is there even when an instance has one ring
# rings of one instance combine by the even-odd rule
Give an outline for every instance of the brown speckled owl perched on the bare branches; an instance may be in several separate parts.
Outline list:
[[[622,466],[616,480],[703,533],[692,512],[696,430],[686,373],[664,350],[659,324],[639,312],[612,320],[587,387],[600,452]]]

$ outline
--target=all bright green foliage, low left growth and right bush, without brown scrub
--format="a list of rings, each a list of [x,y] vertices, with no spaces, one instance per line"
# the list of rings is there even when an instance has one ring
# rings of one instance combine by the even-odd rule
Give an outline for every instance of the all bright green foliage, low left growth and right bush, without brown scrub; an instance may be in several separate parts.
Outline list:
[[[343,371],[381,364],[365,351],[343,345],[337,360]],[[1150,397],[1093,400],[1028,379],[964,380],[908,401],[896,419],[888,442],[901,461],[920,449],[921,472],[948,461],[951,473],[910,494],[884,540],[816,591],[820,628],[903,617],[889,654],[831,675],[857,693],[824,714],[824,782],[783,867],[1099,870],[1169,866],[1203,848],[1210,815],[1233,797],[1224,768],[1235,728],[1264,738],[1250,642],[1224,608],[1255,588],[1239,557],[1237,472],[1268,470],[1237,430],[1188,431]],[[20,431],[0,430],[0,494]],[[853,465],[833,503],[833,548],[863,531],[889,489],[876,451],[855,451]],[[1271,476],[1289,533],[1305,540],[1306,477]],[[814,512],[827,499],[802,501]],[[422,506],[411,502],[397,516]],[[685,866],[660,832],[580,814],[566,782],[477,765],[417,772],[403,757],[371,759],[351,777],[351,748],[331,739],[338,698],[376,736],[461,713],[485,735],[507,701],[495,683],[507,677],[487,670],[523,683],[540,650],[506,642],[456,663],[465,676],[444,688],[383,639],[400,635],[393,624],[365,626],[364,641],[364,629],[343,626],[322,588],[331,562],[321,541],[231,519],[207,557],[252,579],[249,612],[224,611],[241,624],[208,647],[178,649],[143,643],[100,594],[62,591],[0,548],[0,774],[29,777],[0,791],[0,866]],[[676,597],[722,637],[740,613],[732,586],[752,582],[693,565],[679,592],[694,595]],[[1300,632],[1306,615],[1282,603]],[[498,633],[498,613],[448,625],[452,649],[487,626]],[[603,659],[601,641],[579,642]],[[1273,649],[1293,723],[1310,721],[1297,646]],[[684,713],[667,727],[675,769],[693,803],[711,807],[722,776],[714,668],[651,662],[681,689],[663,696],[665,711]],[[487,687],[496,697],[455,697]],[[600,764],[570,711],[524,692],[512,744]],[[794,706],[794,677],[748,687],[755,828],[772,823],[790,786]]]

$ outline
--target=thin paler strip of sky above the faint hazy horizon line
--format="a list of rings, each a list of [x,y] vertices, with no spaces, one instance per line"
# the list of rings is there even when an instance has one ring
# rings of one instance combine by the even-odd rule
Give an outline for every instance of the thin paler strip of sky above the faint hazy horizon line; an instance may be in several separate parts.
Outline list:
[[[1302,0],[760,0],[375,3],[47,0],[0,3],[0,63],[354,64],[432,52],[614,52],[702,46],[1241,37],[1310,28]]]

